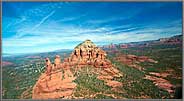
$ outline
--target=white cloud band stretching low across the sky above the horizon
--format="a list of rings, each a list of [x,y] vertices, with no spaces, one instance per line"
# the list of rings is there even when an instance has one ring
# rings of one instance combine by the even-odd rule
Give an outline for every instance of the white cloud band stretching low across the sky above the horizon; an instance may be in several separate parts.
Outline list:
[[[23,28],[20,32],[24,33],[24,36],[19,35],[20,37],[4,38],[3,45],[6,47],[17,48],[34,47],[39,45],[41,47],[44,45],[54,44],[65,45],[74,41],[82,42],[86,39],[90,39],[95,43],[145,41],[158,39],[160,37],[167,37],[168,35],[181,34],[179,32],[182,30],[181,28],[175,26],[169,26],[165,28],[142,27],[142,29],[139,28],[137,30],[132,30],[136,29],[137,27],[131,27],[128,25],[112,28],[99,27],[97,29],[86,29],[83,27],[74,26],[62,26],[60,29],[54,29],[53,27],[59,27],[60,25],[56,24],[55,26],[49,26],[51,26],[50,29],[45,29],[43,26],[40,26],[39,30],[34,31],[31,31],[29,28]],[[123,28],[123,30],[116,30],[117,28]],[[110,34],[105,33],[106,31],[110,31]]]

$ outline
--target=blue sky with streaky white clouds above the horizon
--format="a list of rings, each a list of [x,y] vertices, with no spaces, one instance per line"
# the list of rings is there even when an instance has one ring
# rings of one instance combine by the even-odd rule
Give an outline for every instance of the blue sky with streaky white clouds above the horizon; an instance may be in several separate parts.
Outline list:
[[[3,2],[8,54],[155,40],[182,34],[182,2]]]

